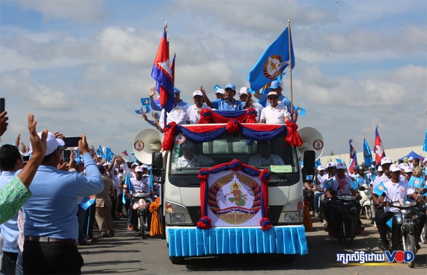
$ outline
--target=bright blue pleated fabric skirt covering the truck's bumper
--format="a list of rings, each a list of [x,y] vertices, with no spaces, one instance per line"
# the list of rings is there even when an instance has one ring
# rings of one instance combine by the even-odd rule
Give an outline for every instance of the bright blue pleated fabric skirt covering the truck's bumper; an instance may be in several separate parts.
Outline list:
[[[266,231],[260,227],[169,227],[167,233],[169,256],[308,253],[304,226],[278,226]]]

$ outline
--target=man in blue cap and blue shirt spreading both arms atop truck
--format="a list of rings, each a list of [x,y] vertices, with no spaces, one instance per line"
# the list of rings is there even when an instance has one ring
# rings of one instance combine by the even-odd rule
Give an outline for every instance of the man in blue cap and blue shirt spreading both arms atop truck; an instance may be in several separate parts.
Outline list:
[[[240,111],[246,109],[247,106],[249,106],[251,100],[250,95],[246,98],[245,102],[234,99],[234,96],[236,95],[236,85],[229,83],[225,86],[224,90],[224,98],[211,101],[209,100],[205,89],[203,89],[203,86],[200,87],[200,91],[203,93],[206,105],[213,109],[219,111]]]

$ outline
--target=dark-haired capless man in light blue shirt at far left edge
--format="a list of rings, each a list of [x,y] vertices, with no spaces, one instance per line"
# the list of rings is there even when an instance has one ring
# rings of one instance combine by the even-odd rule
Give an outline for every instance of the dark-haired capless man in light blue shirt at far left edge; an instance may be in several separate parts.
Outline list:
[[[0,148],[0,189],[15,177],[15,172],[22,169],[24,161],[16,146],[5,144]],[[3,256],[1,261],[1,274],[15,274],[16,260],[18,258],[18,213],[0,225],[3,235]]]

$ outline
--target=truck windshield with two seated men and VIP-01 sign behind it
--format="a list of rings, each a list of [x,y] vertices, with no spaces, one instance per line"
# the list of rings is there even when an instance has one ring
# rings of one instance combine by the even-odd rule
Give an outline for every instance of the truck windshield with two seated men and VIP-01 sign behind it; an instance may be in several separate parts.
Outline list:
[[[170,154],[171,174],[197,174],[202,167],[237,159],[274,174],[296,173],[299,161],[296,150],[285,141],[285,133],[269,141],[254,141],[244,136],[224,134],[209,142],[175,138]]]

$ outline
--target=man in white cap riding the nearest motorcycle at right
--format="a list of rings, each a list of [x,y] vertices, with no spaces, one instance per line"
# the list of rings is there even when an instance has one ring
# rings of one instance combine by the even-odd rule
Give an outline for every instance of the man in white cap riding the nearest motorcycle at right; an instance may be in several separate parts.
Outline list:
[[[413,199],[417,199],[418,195],[415,192],[415,189],[409,186],[409,183],[407,183],[406,181],[401,180],[400,178],[401,169],[399,168],[399,165],[397,163],[393,163],[391,164],[389,169],[390,169],[391,179],[385,183],[383,182],[385,187],[385,190],[384,190],[385,196],[381,196],[379,198],[380,204],[384,202],[396,202],[399,200],[404,200],[404,199],[407,199],[409,196],[411,196]],[[388,250],[389,248],[389,243],[386,238],[386,234],[387,234],[386,223],[388,222],[388,220],[390,220],[390,218],[393,217],[394,213],[396,212],[399,212],[399,208],[389,207],[389,206],[384,206],[384,210],[382,212],[380,213],[377,212],[376,222],[377,222],[378,231],[380,232],[380,238],[382,241],[382,246],[381,246],[382,251]],[[418,230],[415,234],[415,238],[416,238],[415,243],[418,249],[419,235],[421,233],[421,229],[424,227],[424,223],[426,221],[426,215],[422,213],[417,213],[417,214],[419,218],[419,224],[417,226]],[[393,226],[391,230],[392,230],[391,251],[394,251],[394,250],[397,250],[398,248],[397,246],[399,244],[399,237],[400,237],[398,233],[399,227]]]

